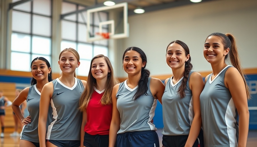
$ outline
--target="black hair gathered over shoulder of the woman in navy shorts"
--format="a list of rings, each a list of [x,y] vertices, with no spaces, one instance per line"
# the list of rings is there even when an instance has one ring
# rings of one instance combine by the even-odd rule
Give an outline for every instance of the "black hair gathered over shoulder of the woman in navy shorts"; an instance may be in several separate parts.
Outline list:
[[[148,90],[147,83],[148,83],[148,78],[150,76],[150,71],[148,69],[145,69],[146,63],[147,63],[146,55],[145,55],[144,51],[142,51],[138,47],[128,47],[124,51],[122,61],[124,60],[125,54],[128,51],[136,51],[137,53],[140,54],[140,57],[142,59],[142,63],[145,62],[145,66],[141,68],[141,77],[140,77],[139,82],[138,82],[137,92],[133,96],[134,100],[136,100],[137,98],[139,98],[139,96],[141,96],[143,94],[147,95],[147,90]]]

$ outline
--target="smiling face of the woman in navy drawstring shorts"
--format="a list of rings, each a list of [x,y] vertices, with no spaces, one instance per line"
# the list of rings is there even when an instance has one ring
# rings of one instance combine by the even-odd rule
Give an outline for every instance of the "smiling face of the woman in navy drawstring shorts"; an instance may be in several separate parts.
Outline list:
[[[142,67],[145,66],[145,62],[142,62],[142,58],[137,51],[127,51],[123,59],[123,68],[129,75],[141,73]]]

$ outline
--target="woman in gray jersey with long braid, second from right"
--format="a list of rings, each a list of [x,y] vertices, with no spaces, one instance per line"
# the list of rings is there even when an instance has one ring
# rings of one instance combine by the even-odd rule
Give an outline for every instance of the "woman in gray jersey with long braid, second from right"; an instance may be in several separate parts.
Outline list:
[[[165,80],[162,96],[164,147],[203,146],[200,94],[204,87],[202,76],[192,71],[188,46],[180,41],[170,42],[166,62],[173,76]]]

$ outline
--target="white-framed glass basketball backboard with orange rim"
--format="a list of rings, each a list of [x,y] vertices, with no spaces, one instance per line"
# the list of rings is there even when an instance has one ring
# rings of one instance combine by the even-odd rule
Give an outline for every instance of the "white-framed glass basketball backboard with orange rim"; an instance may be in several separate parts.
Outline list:
[[[128,4],[88,9],[86,33],[88,42],[106,39],[102,33],[113,39],[129,37]]]

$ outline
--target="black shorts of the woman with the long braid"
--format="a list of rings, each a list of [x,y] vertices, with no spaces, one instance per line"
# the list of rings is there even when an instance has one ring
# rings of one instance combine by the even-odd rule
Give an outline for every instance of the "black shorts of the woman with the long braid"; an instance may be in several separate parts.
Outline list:
[[[164,147],[184,147],[187,141],[188,135],[163,135],[162,145]],[[193,147],[203,147],[203,130],[200,130],[198,137],[196,138]]]

